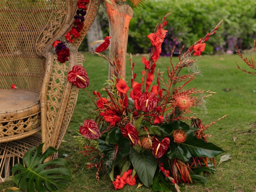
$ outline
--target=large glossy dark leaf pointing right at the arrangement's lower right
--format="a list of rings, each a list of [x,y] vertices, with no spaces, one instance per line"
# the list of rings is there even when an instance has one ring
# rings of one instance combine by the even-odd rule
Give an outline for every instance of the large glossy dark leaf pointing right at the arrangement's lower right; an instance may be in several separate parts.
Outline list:
[[[191,130],[186,131],[186,135],[186,141],[180,144],[174,142],[172,135],[168,136],[171,150],[167,153],[167,156],[170,159],[180,158],[182,161],[187,162],[191,157],[213,158],[224,152],[213,143],[196,138]]]

